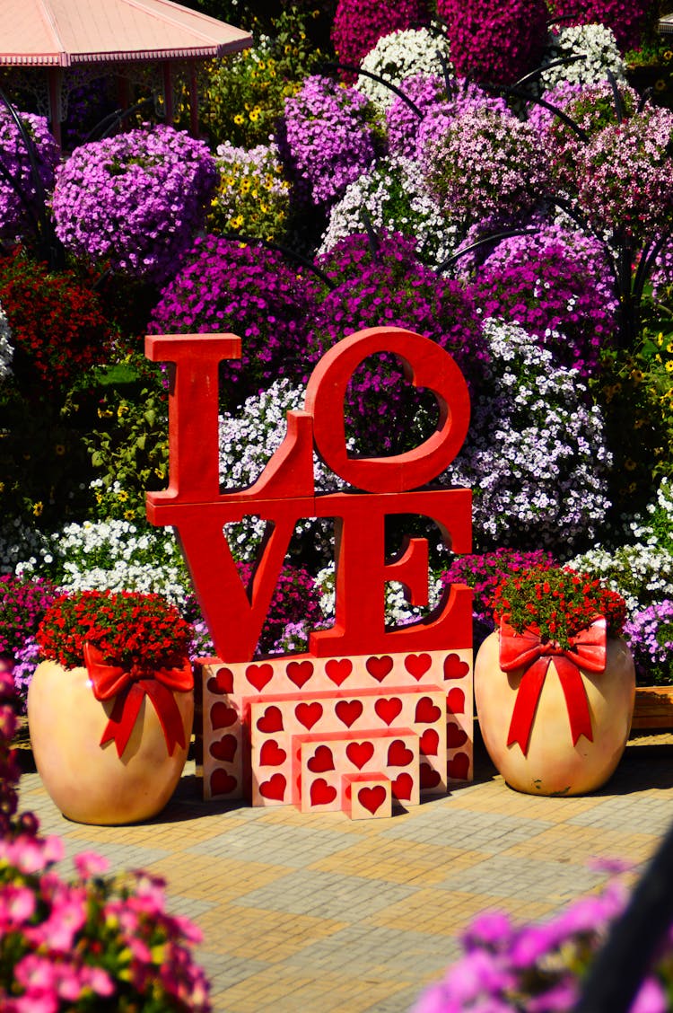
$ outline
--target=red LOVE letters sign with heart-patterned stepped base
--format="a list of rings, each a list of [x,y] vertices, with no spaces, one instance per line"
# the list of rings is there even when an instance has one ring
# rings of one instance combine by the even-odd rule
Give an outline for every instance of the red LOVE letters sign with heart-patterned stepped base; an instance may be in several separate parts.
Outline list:
[[[437,425],[407,453],[351,456],[343,412],[346,389],[357,367],[378,353],[397,356],[407,379],[432,391]],[[411,538],[397,558],[386,559],[387,517],[421,515],[437,525],[447,548],[471,551],[470,489],[428,487],[460,450],[470,421],[468,387],[451,357],[434,341],[398,327],[373,327],[344,338],[314,370],[305,409],[287,412],[285,438],[259,479],[247,489],[221,491],[219,366],[240,358],[241,339],[156,335],[147,338],[146,355],[168,363],[170,371],[170,484],[163,492],[148,493],[148,517],[175,529],[219,655],[202,669],[206,797],[238,793],[258,804],[295,801],[303,810],[333,808],[346,798],[340,778],[357,773],[367,777],[358,795],[362,804],[355,806],[362,815],[372,808],[387,811],[383,800],[390,797],[391,784],[393,799],[406,793],[408,802],[418,788],[421,793],[445,790],[447,776],[468,777],[471,592],[452,586],[427,618],[395,629],[386,626],[385,605],[390,580],[406,588],[413,605],[428,604],[428,543]],[[314,448],[348,483],[348,491],[316,493]],[[266,521],[249,588],[241,581],[224,532],[225,525],[247,514]],[[335,519],[335,623],[311,634],[308,654],[253,664],[295,526],[309,517]],[[451,705],[447,717],[451,700],[458,706]],[[271,707],[257,715],[261,703]],[[340,714],[355,715],[357,706],[351,728]],[[224,714],[234,715],[226,725]],[[401,727],[400,720],[406,722]],[[355,722],[364,737],[353,730]],[[314,725],[318,730],[310,731]],[[459,755],[450,755],[447,727],[452,741],[460,743]],[[403,746],[392,750],[391,742]],[[321,772],[316,786],[317,757],[326,755],[321,747],[340,760],[329,778]],[[391,763],[391,757],[403,755],[413,770]],[[380,797],[381,806],[374,807],[372,800]],[[353,804],[348,793],[349,811]]]

